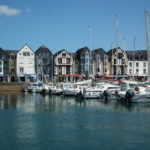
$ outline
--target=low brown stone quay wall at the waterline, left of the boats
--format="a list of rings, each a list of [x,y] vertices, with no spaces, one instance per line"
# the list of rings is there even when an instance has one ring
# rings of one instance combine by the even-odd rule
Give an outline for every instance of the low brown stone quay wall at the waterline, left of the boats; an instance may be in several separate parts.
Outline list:
[[[26,85],[25,83],[0,83],[0,92],[7,91],[22,91],[22,87]]]

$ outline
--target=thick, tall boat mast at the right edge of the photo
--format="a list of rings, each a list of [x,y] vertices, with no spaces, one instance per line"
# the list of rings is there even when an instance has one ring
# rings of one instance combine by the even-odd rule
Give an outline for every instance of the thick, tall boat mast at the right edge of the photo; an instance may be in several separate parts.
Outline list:
[[[149,41],[149,14],[145,10],[145,25],[146,25],[146,45],[147,45],[147,59],[148,59],[148,81],[150,81],[150,41]]]

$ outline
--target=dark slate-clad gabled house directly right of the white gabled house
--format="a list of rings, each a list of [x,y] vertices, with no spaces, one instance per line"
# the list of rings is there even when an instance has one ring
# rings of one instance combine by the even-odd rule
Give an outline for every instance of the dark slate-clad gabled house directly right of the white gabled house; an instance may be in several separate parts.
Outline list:
[[[46,82],[53,78],[53,54],[44,45],[35,52],[35,70],[38,80]]]

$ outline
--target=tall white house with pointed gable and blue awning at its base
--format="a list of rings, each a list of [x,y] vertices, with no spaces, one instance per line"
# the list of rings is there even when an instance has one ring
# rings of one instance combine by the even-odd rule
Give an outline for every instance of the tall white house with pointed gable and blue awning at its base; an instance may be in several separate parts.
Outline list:
[[[35,76],[35,54],[28,45],[17,53],[17,76],[20,81],[32,81]]]

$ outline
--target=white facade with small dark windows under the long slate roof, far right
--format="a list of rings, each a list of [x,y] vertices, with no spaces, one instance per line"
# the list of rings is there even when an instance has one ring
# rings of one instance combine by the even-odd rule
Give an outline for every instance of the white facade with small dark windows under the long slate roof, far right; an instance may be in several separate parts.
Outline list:
[[[148,76],[148,61],[128,61],[128,75]]]

